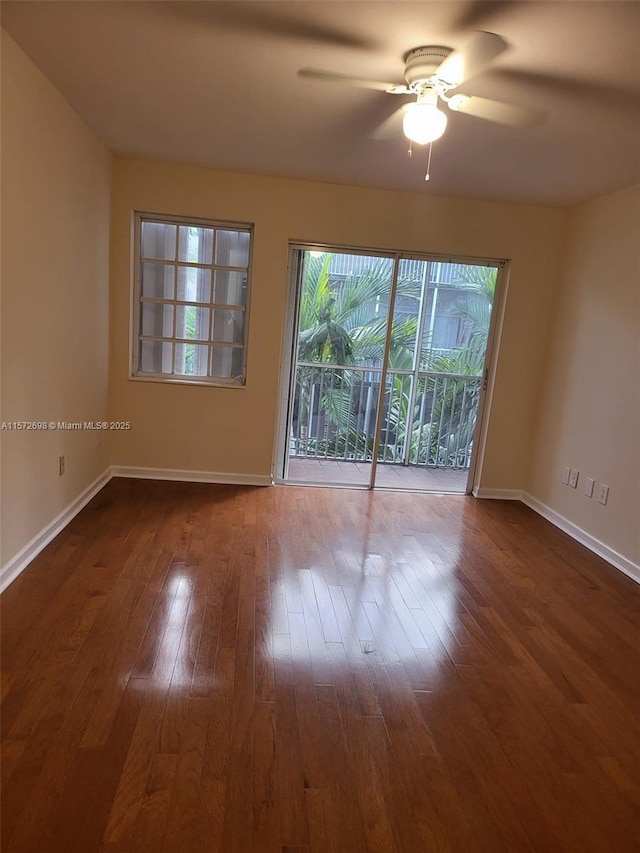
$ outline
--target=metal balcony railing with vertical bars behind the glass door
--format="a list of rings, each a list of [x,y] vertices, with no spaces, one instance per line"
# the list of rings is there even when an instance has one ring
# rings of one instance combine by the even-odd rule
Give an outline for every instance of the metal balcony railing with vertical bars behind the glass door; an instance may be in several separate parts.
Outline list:
[[[291,456],[333,461],[468,468],[480,376],[299,362]],[[375,432],[383,405],[380,441]]]

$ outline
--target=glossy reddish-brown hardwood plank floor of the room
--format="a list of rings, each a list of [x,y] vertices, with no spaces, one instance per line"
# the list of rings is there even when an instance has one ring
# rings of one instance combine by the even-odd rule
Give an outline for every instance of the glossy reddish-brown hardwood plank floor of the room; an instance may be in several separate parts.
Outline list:
[[[2,850],[631,853],[638,587],[517,503],[113,480],[2,597]]]

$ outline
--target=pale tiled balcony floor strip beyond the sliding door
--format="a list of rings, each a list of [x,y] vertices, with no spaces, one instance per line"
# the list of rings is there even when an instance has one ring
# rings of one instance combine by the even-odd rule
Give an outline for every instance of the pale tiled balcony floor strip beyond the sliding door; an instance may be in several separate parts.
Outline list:
[[[370,462],[289,457],[288,482],[367,486]],[[378,463],[376,487],[420,492],[464,494],[469,472],[460,468],[423,468]]]

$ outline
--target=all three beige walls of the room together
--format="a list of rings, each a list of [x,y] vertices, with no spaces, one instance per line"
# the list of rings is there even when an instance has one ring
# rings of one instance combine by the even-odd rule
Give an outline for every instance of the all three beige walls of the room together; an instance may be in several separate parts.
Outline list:
[[[109,463],[271,472],[289,240],[510,259],[481,485],[527,489],[638,561],[638,188],[568,212],[129,158],[110,187],[109,153],[4,33],[2,98],[2,420],[133,425],[100,444],[0,433],[2,564]],[[128,379],[136,209],[255,223],[245,389]],[[565,464],[577,491],[560,484]],[[611,486],[607,507],[583,496],[586,476]]]

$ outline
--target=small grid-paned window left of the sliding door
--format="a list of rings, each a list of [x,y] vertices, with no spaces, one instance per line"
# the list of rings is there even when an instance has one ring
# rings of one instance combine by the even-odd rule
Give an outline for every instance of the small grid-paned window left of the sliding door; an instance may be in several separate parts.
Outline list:
[[[132,375],[245,384],[249,225],[136,215]]]

